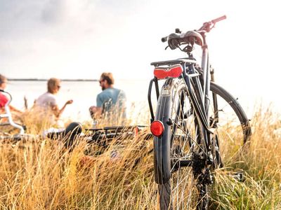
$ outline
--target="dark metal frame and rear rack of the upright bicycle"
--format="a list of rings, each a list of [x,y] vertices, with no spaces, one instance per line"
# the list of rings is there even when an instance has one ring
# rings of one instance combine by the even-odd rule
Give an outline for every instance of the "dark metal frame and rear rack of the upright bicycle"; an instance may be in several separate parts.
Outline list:
[[[203,34],[204,35],[204,34]],[[203,36],[204,38],[204,36]],[[209,54],[206,41],[204,38],[204,45],[202,46],[202,74],[198,73],[195,69],[195,61],[193,57],[188,57],[186,59],[176,59],[163,62],[152,62],[153,66],[162,65],[173,65],[181,64],[183,66],[182,77],[185,80],[185,85],[188,88],[188,94],[192,101],[193,108],[197,114],[197,118],[203,125],[203,134],[205,145],[207,146],[207,151],[210,150],[211,137],[212,134],[210,130],[210,120],[209,120],[209,105],[210,105],[210,68],[209,68]],[[157,100],[159,98],[159,86],[158,79],[155,77],[150,80],[150,85],[148,89],[148,104],[150,107],[151,122],[155,120],[154,111],[152,109],[151,102],[151,92],[152,85],[155,83],[155,90],[157,94]],[[192,88],[194,87],[194,88]]]

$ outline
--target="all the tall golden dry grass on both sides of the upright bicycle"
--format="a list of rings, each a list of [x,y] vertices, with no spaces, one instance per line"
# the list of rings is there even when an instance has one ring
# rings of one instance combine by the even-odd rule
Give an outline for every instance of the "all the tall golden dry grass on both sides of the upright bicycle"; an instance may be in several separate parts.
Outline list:
[[[281,209],[280,116],[258,111],[251,125],[249,148],[227,156],[226,168],[215,173],[210,209]],[[1,142],[0,209],[157,209],[146,133],[115,139],[92,158],[85,148],[99,147],[83,139],[72,152],[42,137]],[[244,182],[230,176],[237,171]]]

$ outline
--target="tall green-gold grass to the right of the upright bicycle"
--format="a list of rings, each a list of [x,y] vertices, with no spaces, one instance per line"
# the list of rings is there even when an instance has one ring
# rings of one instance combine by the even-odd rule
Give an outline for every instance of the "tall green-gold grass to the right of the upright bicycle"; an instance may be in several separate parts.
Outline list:
[[[216,173],[211,209],[281,209],[280,114],[259,109],[251,127],[249,147]],[[233,171],[244,172],[245,181],[228,176]]]

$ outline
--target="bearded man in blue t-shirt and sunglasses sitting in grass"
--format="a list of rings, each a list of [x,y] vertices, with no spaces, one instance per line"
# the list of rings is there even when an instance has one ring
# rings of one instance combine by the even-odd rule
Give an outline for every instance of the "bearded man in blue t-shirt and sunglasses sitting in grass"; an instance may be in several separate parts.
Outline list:
[[[96,106],[90,107],[92,118],[99,118],[101,115],[114,115],[126,118],[126,95],[114,85],[112,73],[102,73],[100,76],[100,87],[103,90],[96,98]]]

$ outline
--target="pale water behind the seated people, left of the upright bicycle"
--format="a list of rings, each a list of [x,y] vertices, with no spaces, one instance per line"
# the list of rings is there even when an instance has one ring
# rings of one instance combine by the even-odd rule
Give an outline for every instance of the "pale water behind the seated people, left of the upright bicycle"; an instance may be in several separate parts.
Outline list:
[[[127,107],[132,105],[137,111],[148,108],[147,95],[149,80],[119,80],[115,87],[124,90],[127,97]],[[9,81],[6,91],[13,96],[12,105],[18,109],[24,108],[24,97],[28,107],[32,107],[34,100],[47,90],[46,81]],[[89,107],[96,105],[96,95],[101,92],[96,81],[63,81],[57,94],[58,105],[61,108],[69,99],[73,104],[66,107],[62,118],[71,120],[91,120]],[[128,110],[130,111],[130,109]]]

